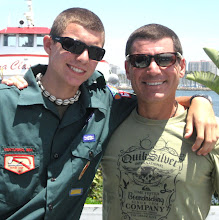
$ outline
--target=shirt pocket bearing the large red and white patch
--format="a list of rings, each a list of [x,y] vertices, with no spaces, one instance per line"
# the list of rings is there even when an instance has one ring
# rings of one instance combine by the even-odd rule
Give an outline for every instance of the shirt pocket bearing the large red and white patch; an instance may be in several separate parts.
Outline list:
[[[40,155],[34,147],[4,146],[0,151],[0,203],[8,206],[29,201],[39,185]],[[1,212],[0,205],[0,212]]]

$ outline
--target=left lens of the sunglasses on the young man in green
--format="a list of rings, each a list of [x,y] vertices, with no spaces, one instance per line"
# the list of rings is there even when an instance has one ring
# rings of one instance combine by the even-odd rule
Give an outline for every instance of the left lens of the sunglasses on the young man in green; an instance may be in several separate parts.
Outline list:
[[[84,51],[86,45],[80,41],[71,38],[65,38],[62,42],[62,47],[71,53],[81,54]]]

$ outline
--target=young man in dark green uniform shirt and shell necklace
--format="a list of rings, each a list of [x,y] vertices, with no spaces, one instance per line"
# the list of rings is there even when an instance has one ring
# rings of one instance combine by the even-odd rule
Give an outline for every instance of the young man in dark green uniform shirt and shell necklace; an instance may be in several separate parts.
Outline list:
[[[136,106],[131,95],[117,94],[120,99],[113,100],[95,71],[105,52],[104,39],[95,14],[68,9],[44,37],[48,66],[28,71],[27,89],[0,86],[1,219],[80,218],[103,143]],[[203,108],[212,111],[206,102]],[[192,123],[190,119],[190,127]],[[208,126],[197,125],[199,147]],[[206,134],[204,149],[209,151],[215,135]]]

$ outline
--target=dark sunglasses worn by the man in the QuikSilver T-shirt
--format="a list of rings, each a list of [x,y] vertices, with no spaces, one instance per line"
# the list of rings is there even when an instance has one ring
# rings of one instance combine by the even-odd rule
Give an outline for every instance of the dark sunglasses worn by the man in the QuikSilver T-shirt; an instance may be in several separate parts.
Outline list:
[[[133,67],[146,68],[150,66],[151,60],[154,58],[158,66],[168,67],[176,63],[177,57],[182,59],[182,55],[179,52],[159,53],[153,56],[147,54],[131,54],[126,56],[126,60],[129,61]]]

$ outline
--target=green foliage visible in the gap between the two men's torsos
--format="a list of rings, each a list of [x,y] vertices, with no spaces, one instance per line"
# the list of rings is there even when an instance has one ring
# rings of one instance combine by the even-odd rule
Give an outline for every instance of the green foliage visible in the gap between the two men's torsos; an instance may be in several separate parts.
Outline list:
[[[92,182],[85,204],[102,204],[103,199],[103,177],[102,169],[98,168]]]

